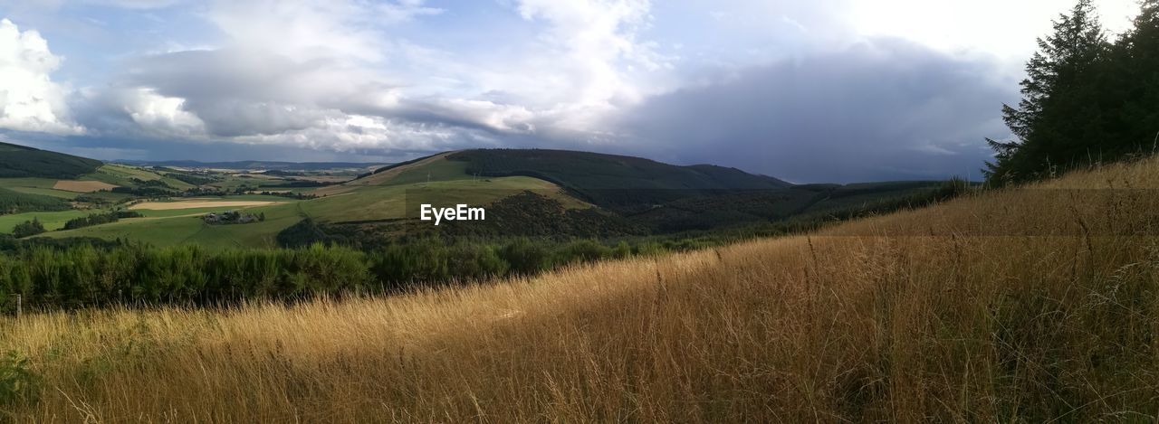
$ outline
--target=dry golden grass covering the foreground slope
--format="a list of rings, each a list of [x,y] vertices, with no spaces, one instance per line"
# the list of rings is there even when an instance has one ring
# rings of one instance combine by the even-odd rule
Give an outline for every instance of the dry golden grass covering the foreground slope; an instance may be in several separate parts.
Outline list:
[[[17,422],[1151,421],[1159,161],[380,299],[0,321]],[[1057,189],[1057,190],[1048,190]],[[1080,190],[1062,190],[1080,189]]]

